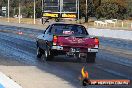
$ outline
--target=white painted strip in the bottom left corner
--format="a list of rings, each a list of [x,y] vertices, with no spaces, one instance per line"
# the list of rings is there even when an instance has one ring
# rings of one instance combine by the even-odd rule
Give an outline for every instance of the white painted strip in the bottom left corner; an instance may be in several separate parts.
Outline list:
[[[22,88],[2,72],[0,72],[0,84],[3,86],[3,88]]]

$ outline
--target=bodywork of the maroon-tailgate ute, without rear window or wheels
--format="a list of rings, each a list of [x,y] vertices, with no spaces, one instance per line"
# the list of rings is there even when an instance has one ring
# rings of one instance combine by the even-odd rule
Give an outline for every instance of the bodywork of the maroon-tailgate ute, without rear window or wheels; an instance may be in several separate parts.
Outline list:
[[[41,49],[45,50],[49,48],[53,51],[62,51],[62,52],[69,52],[71,49],[79,49],[79,52],[98,52],[99,44],[95,44],[95,37],[91,37],[87,30],[86,34],[81,35],[63,35],[63,34],[54,34],[51,33],[52,28],[54,25],[74,25],[80,26],[76,24],[64,24],[64,23],[55,23],[51,24],[46,28],[44,34],[39,35],[37,37],[37,45]],[[81,25],[82,26],[82,25]],[[83,26],[82,26],[83,27]],[[53,45],[53,38],[57,36],[57,45]]]

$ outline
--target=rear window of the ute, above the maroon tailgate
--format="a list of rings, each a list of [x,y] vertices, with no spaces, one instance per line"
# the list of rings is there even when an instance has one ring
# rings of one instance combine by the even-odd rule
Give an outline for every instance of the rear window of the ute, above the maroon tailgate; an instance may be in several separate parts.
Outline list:
[[[84,26],[70,24],[52,25],[50,32],[58,35],[88,35]]]

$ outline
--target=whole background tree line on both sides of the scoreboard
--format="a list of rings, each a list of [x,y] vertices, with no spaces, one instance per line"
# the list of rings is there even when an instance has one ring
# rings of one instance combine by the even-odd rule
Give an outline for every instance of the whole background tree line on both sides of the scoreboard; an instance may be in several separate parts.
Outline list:
[[[0,8],[7,6],[8,0],[0,1]],[[19,3],[24,17],[33,16],[33,0],[10,0],[10,16],[18,14]],[[132,0],[80,0],[80,17],[96,17],[97,19],[129,19],[132,18]],[[1,13],[1,12],[0,12]],[[36,17],[42,14],[41,0],[36,0]]]

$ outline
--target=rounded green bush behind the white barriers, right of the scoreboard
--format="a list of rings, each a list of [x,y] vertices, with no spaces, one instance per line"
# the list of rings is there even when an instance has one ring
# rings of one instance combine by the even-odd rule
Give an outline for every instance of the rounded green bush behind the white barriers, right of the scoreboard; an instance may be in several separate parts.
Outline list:
[[[126,18],[127,9],[116,3],[103,3],[96,9],[96,16],[98,18]]]

